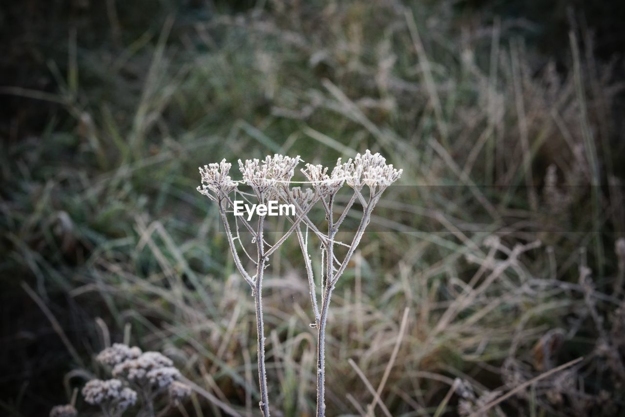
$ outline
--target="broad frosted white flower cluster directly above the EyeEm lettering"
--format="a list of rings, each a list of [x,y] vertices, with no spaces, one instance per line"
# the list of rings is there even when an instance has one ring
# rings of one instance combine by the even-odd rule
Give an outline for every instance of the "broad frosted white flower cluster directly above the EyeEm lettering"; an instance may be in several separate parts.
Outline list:
[[[239,159],[239,170],[243,182],[252,188],[259,200],[264,201],[275,198],[282,184],[291,181],[299,161],[299,155],[291,158],[281,154],[267,155],[262,162],[259,159],[246,159],[243,163]]]

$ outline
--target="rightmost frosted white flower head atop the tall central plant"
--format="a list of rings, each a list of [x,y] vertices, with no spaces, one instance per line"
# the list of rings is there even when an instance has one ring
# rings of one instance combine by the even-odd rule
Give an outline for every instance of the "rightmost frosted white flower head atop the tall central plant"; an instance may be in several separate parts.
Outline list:
[[[360,189],[367,185],[374,192],[377,187],[384,189],[401,176],[403,169],[395,169],[392,164],[386,164],[386,158],[379,153],[372,154],[369,149],[364,154],[356,154],[343,164],[347,177],[346,182],[352,188]]]

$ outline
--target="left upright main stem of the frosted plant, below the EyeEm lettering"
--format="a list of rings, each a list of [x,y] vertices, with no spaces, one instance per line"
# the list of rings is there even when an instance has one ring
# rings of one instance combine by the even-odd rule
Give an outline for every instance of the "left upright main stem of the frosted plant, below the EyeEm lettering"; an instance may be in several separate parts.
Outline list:
[[[259,406],[263,417],[269,417],[269,398],[267,396],[267,374],[265,371],[265,329],[262,319],[262,276],[265,269],[266,257],[264,254],[264,244],[262,243],[262,226],[264,216],[258,218],[258,231],[256,234],[256,247],[258,253],[258,263],[256,271],[256,282],[254,287],[254,302],[256,304],[256,333],[258,336],[258,383],[261,389],[261,402]]]

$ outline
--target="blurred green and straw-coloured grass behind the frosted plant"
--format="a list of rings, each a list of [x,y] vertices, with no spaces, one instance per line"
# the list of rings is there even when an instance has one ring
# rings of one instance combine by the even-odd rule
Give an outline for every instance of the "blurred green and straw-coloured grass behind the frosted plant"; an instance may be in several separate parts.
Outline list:
[[[130,329],[256,415],[253,300],[197,166],[367,148],[404,176],[332,301],[328,414],[469,414],[504,393],[484,413],[624,413],[624,9],[4,2],[0,413],[66,403]],[[265,298],[284,416],[314,413],[296,246]]]

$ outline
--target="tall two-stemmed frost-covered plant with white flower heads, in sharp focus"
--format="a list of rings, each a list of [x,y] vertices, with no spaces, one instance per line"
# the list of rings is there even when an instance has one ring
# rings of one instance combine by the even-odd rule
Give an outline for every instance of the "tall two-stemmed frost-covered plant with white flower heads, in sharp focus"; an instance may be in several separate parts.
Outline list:
[[[366,153],[362,155],[357,154],[353,160],[349,159],[346,163],[342,163],[339,158],[336,166],[334,166],[331,171],[330,168],[322,165],[306,164],[306,168],[301,169],[301,172],[307,179],[307,181],[304,182],[309,183],[312,189],[302,189],[300,187],[291,188],[291,179],[300,161],[302,161],[302,159],[299,156],[289,158],[288,156],[279,154],[267,156],[262,161],[259,159],[248,159],[243,162],[239,159],[239,169],[242,174],[242,181],[239,182],[246,184],[252,189],[259,203],[264,203],[269,199],[279,198],[286,203],[292,204],[296,208],[295,214],[289,217],[291,227],[281,238],[277,239],[274,244],[267,243],[264,238],[264,215],[257,216],[256,228],[252,227],[244,218],[240,220],[247,231],[251,233],[252,242],[256,243],[255,260],[249,256],[241,243],[237,219],[235,218],[236,238],[234,238],[227,216],[227,213],[229,213],[228,208],[233,205],[229,194],[241,193],[236,187],[236,182],[232,181],[230,176],[228,176],[231,164],[227,163],[224,159],[220,164],[209,164],[205,165],[203,169],[200,168],[202,184],[197,188],[200,193],[208,196],[212,201],[217,203],[234,264],[252,289],[252,295],[254,296],[256,306],[258,375],[261,392],[259,405],[264,417],[269,416],[269,399],[267,395],[267,379],[264,363],[265,338],[262,316],[262,278],[269,256],[274,253],[292,233],[296,234],[302,254],[304,254],[304,264],[306,266],[309,292],[315,318],[315,322],[311,324],[311,326],[317,329],[317,417],[324,416],[325,336],[327,313],[332,290],[337,280],[347,268],[349,260],[360,243],[362,234],[371,220],[373,208],[381,198],[382,192],[389,185],[397,181],[402,173],[401,169],[397,170],[393,168],[391,164],[386,164],[386,159],[379,153],[371,154],[371,152],[367,150]],[[345,183],[352,189],[352,196],[342,210],[341,215],[335,220],[334,202],[337,193]],[[362,193],[364,186],[368,186],[369,193]],[[319,201],[326,211],[327,233],[322,233],[307,216],[307,213]],[[356,233],[354,234],[354,238],[351,244],[338,242],[336,241],[336,234],[339,231],[339,227],[356,201],[359,201],[362,206],[362,217]],[[306,233],[302,231],[302,224],[306,226]],[[321,308],[319,308],[319,303],[317,302],[316,284],[308,251],[309,231],[319,238],[322,246],[323,273],[321,277]],[[239,249],[235,244],[235,240],[241,244],[241,250],[256,264],[256,274],[252,275],[252,273],[247,272],[246,268],[244,268],[239,258]],[[336,244],[347,247],[347,253],[342,261],[339,261],[334,253]]]

